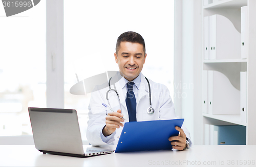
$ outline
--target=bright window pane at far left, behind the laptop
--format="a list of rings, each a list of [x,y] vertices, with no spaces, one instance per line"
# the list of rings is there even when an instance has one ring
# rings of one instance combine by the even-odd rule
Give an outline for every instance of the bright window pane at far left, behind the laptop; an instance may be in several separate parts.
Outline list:
[[[46,107],[46,4],[6,17],[0,5],[0,136],[32,135],[28,107]]]

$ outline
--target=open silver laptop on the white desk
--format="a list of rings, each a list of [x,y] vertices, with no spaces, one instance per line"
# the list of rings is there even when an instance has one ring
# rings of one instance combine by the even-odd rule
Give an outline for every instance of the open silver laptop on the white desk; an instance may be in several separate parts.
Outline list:
[[[76,110],[29,107],[35,148],[42,153],[88,157],[115,150],[83,148]]]

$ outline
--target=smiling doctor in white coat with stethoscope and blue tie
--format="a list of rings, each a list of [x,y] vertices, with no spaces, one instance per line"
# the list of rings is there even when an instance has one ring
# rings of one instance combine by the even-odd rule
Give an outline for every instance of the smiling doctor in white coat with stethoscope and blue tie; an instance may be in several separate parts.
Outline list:
[[[119,73],[111,79],[113,83],[110,84],[119,93],[121,104],[119,105],[117,95],[112,91],[109,93],[109,99],[110,101],[112,99],[112,102],[116,100],[116,102],[110,104],[110,107],[117,112],[111,112],[104,108],[101,104],[108,104],[106,91],[109,90],[109,86],[103,89],[96,87],[97,91],[92,93],[90,100],[90,120],[87,129],[87,138],[93,146],[111,143],[116,145],[125,122],[178,118],[167,87],[152,80],[149,82],[152,107],[155,111],[152,114],[147,113],[150,104],[150,90],[146,78],[141,73],[147,54],[145,53],[144,39],[140,34],[135,32],[121,34],[117,39],[114,55]],[[127,98],[125,99],[125,97]],[[108,114],[106,115],[106,113]],[[189,131],[184,126],[176,127],[176,129],[180,134],[169,137],[170,144],[178,150],[189,148]]]

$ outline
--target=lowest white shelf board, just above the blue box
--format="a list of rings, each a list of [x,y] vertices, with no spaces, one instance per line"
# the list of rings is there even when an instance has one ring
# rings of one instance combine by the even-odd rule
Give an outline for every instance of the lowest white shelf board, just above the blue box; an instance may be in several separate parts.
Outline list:
[[[203,116],[214,118],[220,121],[225,121],[232,124],[247,126],[247,123],[242,123],[240,121],[240,114],[212,115],[212,114],[203,113]]]

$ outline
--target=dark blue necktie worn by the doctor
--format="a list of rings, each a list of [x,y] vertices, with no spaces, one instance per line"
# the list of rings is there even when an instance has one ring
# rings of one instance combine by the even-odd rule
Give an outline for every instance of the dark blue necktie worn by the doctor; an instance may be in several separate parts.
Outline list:
[[[127,93],[126,93],[126,107],[129,115],[129,122],[136,122],[136,99],[133,92],[133,82],[127,83]]]

